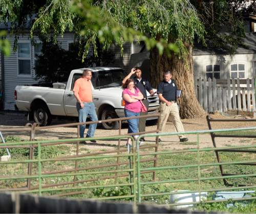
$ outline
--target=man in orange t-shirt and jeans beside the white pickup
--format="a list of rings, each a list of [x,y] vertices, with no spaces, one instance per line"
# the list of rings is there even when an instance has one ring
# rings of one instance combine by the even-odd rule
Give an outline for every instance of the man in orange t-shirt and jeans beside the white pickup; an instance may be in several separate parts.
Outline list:
[[[92,72],[89,69],[84,69],[82,77],[76,80],[73,91],[74,96],[77,100],[76,109],[78,111],[79,122],[86,122],[87,116],[90,117],[92,121],[97,121],[98,117],[95,111],[95,106],[93,103],[92,96]],[[97,124],[90,124],[86,137],[93,137]],[[84,138],[84,130],[86,130],[86,125],[80,125],[80,137]],[[96,142],[96,140],[91,140],[91,142]],[[86,144],[83,141],[83,144]]]

